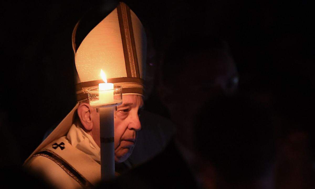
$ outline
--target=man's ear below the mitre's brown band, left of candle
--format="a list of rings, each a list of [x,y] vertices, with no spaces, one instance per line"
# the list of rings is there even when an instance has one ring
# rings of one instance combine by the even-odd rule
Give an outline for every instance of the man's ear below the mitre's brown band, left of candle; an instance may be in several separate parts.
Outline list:
[[[93,128],[93,121],[91,117],[91,110],[89,104],[81,102],[79,104],[77,111],[83,127],[86,130],[91,130]]]

